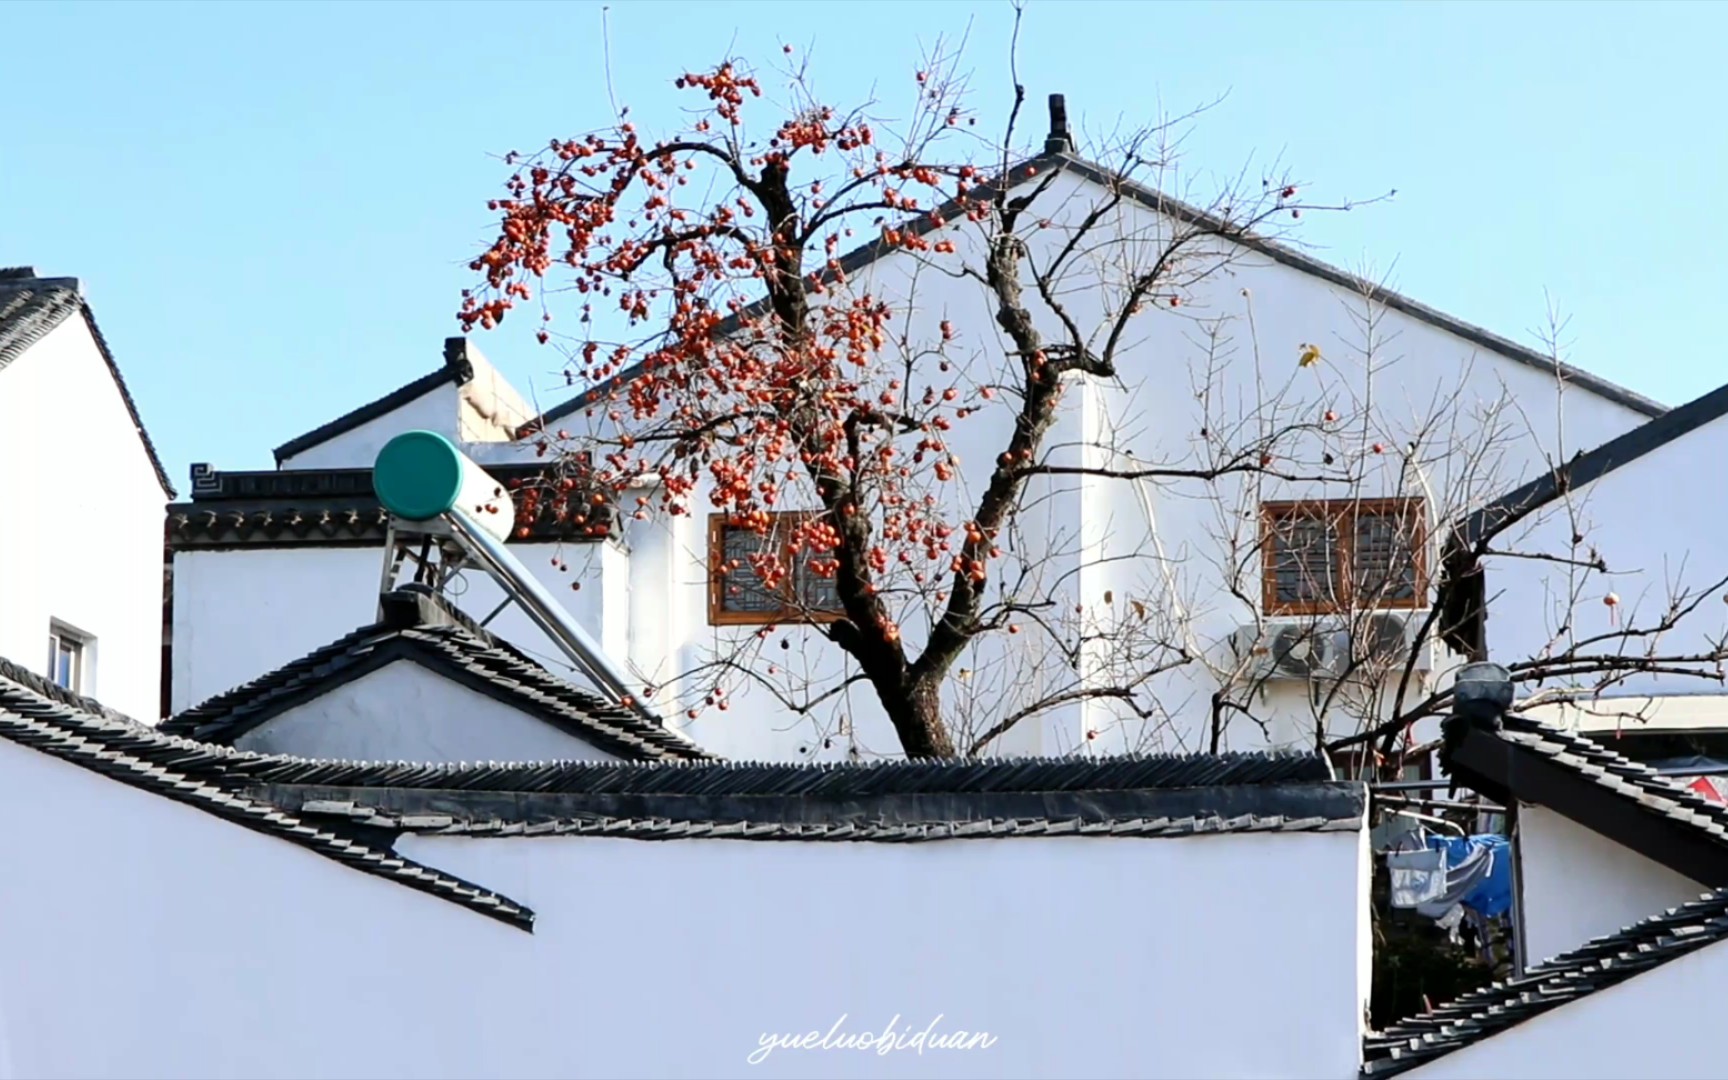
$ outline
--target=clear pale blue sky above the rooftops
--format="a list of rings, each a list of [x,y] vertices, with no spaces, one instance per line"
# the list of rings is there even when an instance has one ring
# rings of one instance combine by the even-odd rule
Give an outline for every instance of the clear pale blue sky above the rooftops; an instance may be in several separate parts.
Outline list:
[[[612,83],[650,131],[729,50],[809,52],[852,102],[969,26],[1007,93],[1006,0],[613,0]],[[600,3],[9,3],[0,264],[85,280],[150,434],[187,465],[270,449],[439,363],[496,156],[608,121]],[[1728,378],[1728,7],[1033,0],[1021,79],[1082,130],[1227,95],[1185,168],[1282,156],[1320,257],[1668,404]],[[22,47],[21,47],[22,45]],[[1042,111],[1042,105],[1040,105]],[[480,346],[556,399],[527,321]]]

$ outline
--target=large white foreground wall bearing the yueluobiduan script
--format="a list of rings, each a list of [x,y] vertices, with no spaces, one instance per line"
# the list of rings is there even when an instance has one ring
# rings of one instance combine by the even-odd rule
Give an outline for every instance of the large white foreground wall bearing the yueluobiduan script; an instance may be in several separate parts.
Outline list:
[[[0,874],[0,1026],[21,1077],[1356,1070],[1353,833],[403,843],[532,905],[529,935],[0,743],[0,816],[43,805],[54,828],[0,833],[17,871]],[[847,1032],[942,1014],[997,1042],[746,1063],[764,1032],[842,1014]]]

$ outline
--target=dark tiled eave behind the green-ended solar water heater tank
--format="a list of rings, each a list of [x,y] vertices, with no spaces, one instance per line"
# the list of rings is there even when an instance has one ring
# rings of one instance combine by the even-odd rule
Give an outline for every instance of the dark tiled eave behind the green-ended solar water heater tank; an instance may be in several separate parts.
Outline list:
[[[558,463],[487,465],[486,472],[511,487],[548,486],[563,479]],[[582,505],[579,494],[567,496]],[[594,543],[612,536],[610,506],[584,505],[560,511],[543,499],[527,525],[525,543]],[[372,489],[370,468],[290,468],[221,472],[192,467],[192,501],[168,506],[166,534],[175,551],[188,548],[377,546],[391,515]]]

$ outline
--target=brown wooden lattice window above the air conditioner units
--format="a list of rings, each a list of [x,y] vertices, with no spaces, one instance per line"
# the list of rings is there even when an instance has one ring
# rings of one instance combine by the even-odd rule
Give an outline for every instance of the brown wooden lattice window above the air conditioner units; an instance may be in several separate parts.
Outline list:
[[[1424,603],[1422,499],[1263,503],[1260,510],[1268,615]]]

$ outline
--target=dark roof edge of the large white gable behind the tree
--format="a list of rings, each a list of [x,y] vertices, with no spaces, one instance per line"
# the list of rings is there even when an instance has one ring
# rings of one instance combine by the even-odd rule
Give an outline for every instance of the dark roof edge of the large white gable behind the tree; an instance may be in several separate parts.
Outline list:
[[[1045,145],[1047,147],[1056,145],[1056,140],[1051,140]],[[1073,173],[1077,173],[1077,175],[1090,180],[1092,183],[1099,183],[1099,185],[1104,185],[1104,187],[1116,187],[1116,185],[1120,185],[1121,187],[1121,194],[1125,197],[1132,199],[1134,202],[1137,202],[1140,206],[1146,206],[1149,209],[1154,209],[1154,211],[1168,213],[1168,214],[1172,214],[1172,216],[1175,216],[1178,219],[1189,221],[1189,223],[1215,225],[1215,223],[1220,221],[1217,218],[1217,214],[1210,214],[1210,213],[1206,213],[1203,209],[1198,209],[1198,207],[1194,207],[1194,206],[1191,206],[1187,202],[1182,202],[1178,199],[1172,199],[1168,195],[1161,195],[1159,192],[1156,192],[1156,190],[1153,190],[1153,188],[1149,188],[1149,187],[1146,187],[1142,183],[1137,183],[1137,181],[1132,181],[1132,180],[1130,181],[1120,181],[1115,176],[1111,176],[1109,171],[1104,169],[1102,166],[1097,166],[1097,164],[1094,164],[1094,162],[1090,162],[1090,161],[1087,161],[1087,159],[1083,159],[1083,157],[1080,157],[1080,156],[1077,156],[1073,152],[1066,152],[1066,150],[1051,150],[1051,149],[1045,149],[1044,154],[1040,154],[1037,157],[1032,157],[1028,161],[1023,161],[1021,164],[1014,166],[1009,171],[1007,187],[1009,188],[1020,187],[1021,183],[1025,183],[1026,180],[1030,180],[1037,171],[1042,171],[1045,168],[1064,168],[1064,169],[1070,169],[1070,171],[1073,171]],[[949,204],[942,206],[937,213],[942,218],[952,219],[956,209],[957,209],[956,204],[950,200]],[[931,230],[930,214],[928,213],[926,214],[918,214],[916,218],[912,218],[911,221],[907,221],[902,226],[902,232],[907,230],[907,228],[911,228],[918,235],[923,235],[923,233],[930,232]],[[1303,273],[1313,275],[1313,276],[1322,278],[1325,282],[1331,282],[1334,285],[1341,285],[1341,287],[1346,287],[1346,289],[1351,289],[1351,290],[1362,290],[1365,287],[1365,282],[1360,276],[1356,276],[1353,273],[1348,273],[1344,270],[1339,270],[1337,266],[1332,266],[1329,263],[1322,263],[1320,259],[1317,259],[1317,257],[1313,257],[1313,256],[1310,256],[1310,254],[1306,254],[1303,251],[1298,251],[1294,247],[1289,247],[1286,244],[1279,244],[1277,240],[1270,240],[1270,238],[1256,237],[1256,235],[1249,233],[1249,235],[1232,237],[1232,242],[1241,244],[1242,247],[1248,247],[1249,251],[1256,251],[1260,254],[1265,254],[1265,256],[1268,256],[1268,257],[1272,257],[1272,259],[1275,259],[1275,261],[1279,261],[1279,263],[1282,263],[1282,264],[1286,264],[1286,266],[1289,266],[1293,270],[1299,270]],[[845,256],[842,256],[840,268],[845,273],[848,273],[848,275],[855,273],[857,270],[862,270],[864,266],[874,263],[876,259],[880,259],[881,256],[888,254],[890,251],[895,251],[895,249],[888,247],[881,240],[871,240],[871,242],[867,242],[867,244],[864,244],[861,247],[855,247],[855,249],[848,251]],[[1381,302],[1381,304],[1384,304],[1384,306],[1388,306],[1388,308],[1391,308],[1394,311],[1401,311],[1403,314],[1408,314],[1408,316],[1412,316],[1415,320],[1420,320],[1424,323],[1438,327],[1438,328],[1441,328],[1441,330],[1445,330],[1448,334],[1462,337],[1464,340],[1467,340],[1467,342],[1471,342],[1474,346],[1481,346],[1484,349],[1498,353],[1498,354],[1505,356],[1507,359],[1517,361],[1517,363],[1521,363],[1524,366],[1529,366],[1529,368],[1536,368],[1538,372],[1543,372],[1547,375],[1555,375],[1559,378],[1564,378],[1566,382],[1569,382],[1572,385],[1578,385],[1581,389],[1590,391],[1591,394],[1597,394],[1597,396],[1605,397],[1605,399],[1609,399],[1609,401],[1612,401],[1616,404],[1630,408],[1635,413],[1642,413],[1645,416],[1661,416],[1661,415],[1664,415],[1668,411],[1668,406],[1664,406],[1661,403],[1655,403],[1655,401],[1645,397],[1643,394],[1636,394],[1636,392],[1633,392],[1633,391],[1630,391],[1630,389],[1626,389],[1626,387],[1623,387],[1619,384],[1609,382],[1607,378],[1602,378],[1598,375],[1591,375],[1590,372],[1583,372],[1579,368],[1572,368],[1569,365],[1559,363],[1559,361],[1555,361],[1550,356],[1543,356],[1541,353],[1536,353],[1534,349],[1521,346],[1521,344],[1517,344],[1517,342],[1514,342],[1514,340],[1510,340],[1507,337],[1500,337],[1498,334],[1495,334],[1491,330],[1484,330],[1483,327],[1477,327],[1474,323],[1467,323],[1467,321],[1464,321],[1460,318],[1446,314],[1445,311],[1438,311],[1434,308],[1429,308],[1427,304],[1422,304],[1420,301],[1414,301],[1414,299],[1410,299],[1410,297],[1407,297],[1407,295],[1403,295],[1400,292],[1394,292],[1391,289],[1374,287],[1374,299],[1375,299],[1375,302]],[[764,308],[764,302],[762,301],[755,301],[755,302],[748,304],[746,308],[743,308],[738,316],[729,316],[729,318],[722,320],[714,328],[714,332],[719,334],[719,335],[724,335],[724,334],[727,334],[727,332],[731,332],[733,328],[738,327],[740,316],[759,314],[762,311],[762,308]],[[518,435],[525,435],[525,434],[529,434],[529,432],[532,432],[536,429],[544,429],[548,423],[555,423],[555,422],[562,420],[563,416],[569,416],[575,410],[582,408],[589,401],[591,396],[603,396],[610,387],[613,387],[613,385],[617,385],[620,382],[627,382],[627,380],[634,378],[634,375],[639,372],[639,368],[641,368],[639,365],[626,368],[624,372],[619,372],[612,378],[607,378],[605,382],[596,384],[594,387],[584,389],[581,394],[577,394],[577,396],[574,396],[574,397],[570,397],[570,399],[567,399],[567,401],[563,401],[560,404],[555,404],[553,408],[550,408],[544,413],[541,413],[537,418],[534,418],[529,423],[522,425],[522,429],[518,430]]]

